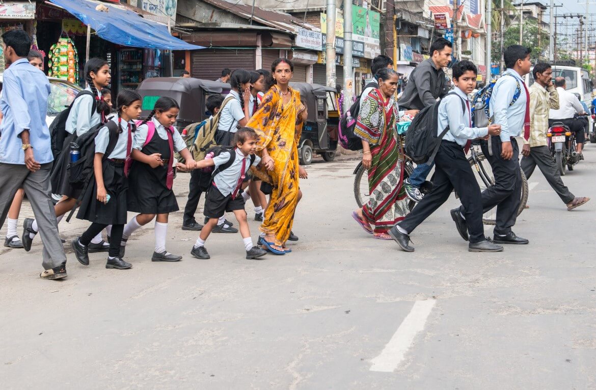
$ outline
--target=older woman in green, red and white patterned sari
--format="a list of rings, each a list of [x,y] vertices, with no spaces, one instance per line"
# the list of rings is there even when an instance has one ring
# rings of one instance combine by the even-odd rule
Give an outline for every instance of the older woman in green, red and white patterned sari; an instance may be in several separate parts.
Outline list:
[[[403,184],[403,141],[396,131],[398,103],[393,99],[398,74],[383,68],[379,88],[362,103],[354,133],[362,139],[362,165],[368,169],[370,198],[353,218],[374,238],[391,240],[387,231],[409,212]],[[374,225],[374,229],[370,225]]]

